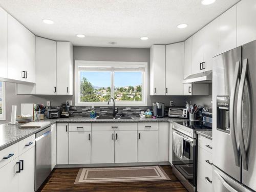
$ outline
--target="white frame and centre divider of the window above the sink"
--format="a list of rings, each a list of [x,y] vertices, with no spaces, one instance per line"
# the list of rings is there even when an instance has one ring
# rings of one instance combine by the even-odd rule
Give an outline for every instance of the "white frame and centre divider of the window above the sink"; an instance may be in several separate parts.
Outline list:
[[[147,106],[147,62],[123,62],[123,61],[90,61],[75,60],[75,105],[77,106],[108,106],[107,102],[80,102],[80,81],[79,67],[88,67],[88,71],[104,71],[102,68],[110,68],[111,71],[111,97],[114,97],[114,73],[125,71],[142,72],[142,101],[117,101],[116,106]],[[116,68],[119,68],[118,70]],[[106,71],[106,70],[105,70]]]

